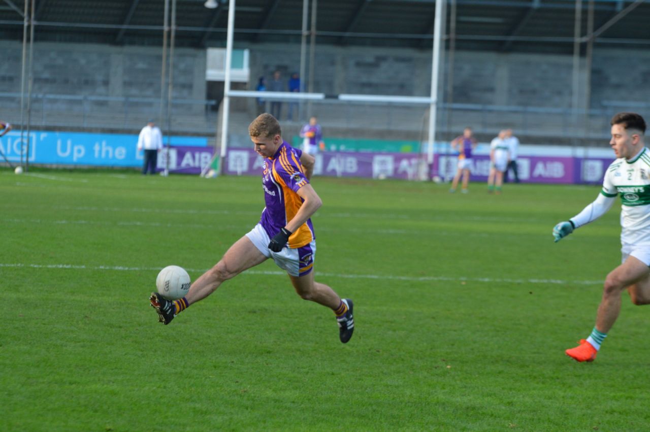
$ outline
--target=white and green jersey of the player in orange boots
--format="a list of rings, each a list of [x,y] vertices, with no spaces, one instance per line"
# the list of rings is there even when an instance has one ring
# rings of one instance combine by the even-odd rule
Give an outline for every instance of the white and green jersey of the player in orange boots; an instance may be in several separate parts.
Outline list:
[[[616,159],[603,180],[606,197],[621,196],[621,242],[650,244],[650,151],[632,160]]]

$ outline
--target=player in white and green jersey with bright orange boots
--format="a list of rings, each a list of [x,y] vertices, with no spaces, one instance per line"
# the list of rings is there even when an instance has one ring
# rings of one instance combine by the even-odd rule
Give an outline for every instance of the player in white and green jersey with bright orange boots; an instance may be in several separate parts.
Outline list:
[[[573,218],[553,228],[558,242],[573,230],[596,220],[621,196],[621,265],[604,282],[603,298],[591,335],[580,340],[567,355],[577,361],[593,361],[621,310],[621,294],[627,289],[632,303],[650,303],[650,151],[643,143],[645,121],[632,112],[612,118],[610,146],[617,159],[607,169],[603,190],[595,201]]]

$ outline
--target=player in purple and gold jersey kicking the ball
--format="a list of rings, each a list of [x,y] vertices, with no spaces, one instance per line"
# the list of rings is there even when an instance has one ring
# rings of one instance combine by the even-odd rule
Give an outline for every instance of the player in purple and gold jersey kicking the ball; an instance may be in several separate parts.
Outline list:
[[[337,317],[339,338],[346,343],[354,331],[351,299],[341,299],[330,286],[314,280],[316,237],[311,216],[322,201],[309,184],[314,157],[282,139],[278,120],[261,114],[248,126],[255,151],[264,158],[262,188],[266,207],[255,227],[226,251],[216,265],[196,279],[182,299],[170,301],[152,292],[149,301],[159,321],[169,324],[189,305],[248,268],[273,259],[287,271],[300,297],[330,308]]]

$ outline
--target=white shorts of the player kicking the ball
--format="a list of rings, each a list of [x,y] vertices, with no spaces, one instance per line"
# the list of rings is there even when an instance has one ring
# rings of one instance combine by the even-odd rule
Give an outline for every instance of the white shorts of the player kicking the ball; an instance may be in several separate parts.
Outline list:
[[[304,276],[313,270],[316,255],[315,240],[311,240],[309,244],[305,244],[302,248],[292,249],[285,246],[281,251],[274,252],[268,249],[271,239],[259,223],[246,233],[246,237],[253,242],[255,248],[259,249],[266,258],[272,258],[279,268],[286,270],[292,276]]]

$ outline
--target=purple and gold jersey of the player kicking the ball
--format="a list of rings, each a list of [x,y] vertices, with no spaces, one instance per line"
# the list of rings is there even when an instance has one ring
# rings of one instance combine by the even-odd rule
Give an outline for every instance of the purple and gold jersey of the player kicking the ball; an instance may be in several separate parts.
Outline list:
[[[303,199],[296,193],[309,184],[300,163],[302,151],[282,142],[273,157],[262,164],[262,186],[266,207],[259,223],[269,237],[278,234],[280,229],[292,220],[302,205]],[[289,248],[302,248],[315,240],[311,219],[300,225],[289,237]]]

